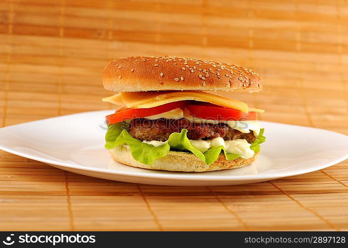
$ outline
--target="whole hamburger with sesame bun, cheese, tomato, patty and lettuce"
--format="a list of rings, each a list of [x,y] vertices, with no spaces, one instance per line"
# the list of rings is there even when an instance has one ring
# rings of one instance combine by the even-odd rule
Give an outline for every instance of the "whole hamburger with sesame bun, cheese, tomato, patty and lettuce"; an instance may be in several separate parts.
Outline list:
[[[265,141],[256,113],[221,92],[258,92],[261,77],[240,65],[180,57],[129,57],[104,68],[105,148],[125,165],[205,172],[253,163]]]

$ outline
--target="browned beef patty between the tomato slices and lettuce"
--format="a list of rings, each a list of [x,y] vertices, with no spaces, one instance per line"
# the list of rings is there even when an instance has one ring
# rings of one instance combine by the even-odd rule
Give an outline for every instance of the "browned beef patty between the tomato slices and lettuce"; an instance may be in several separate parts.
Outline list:
[[[212,139],[222,137],[224,140],[246,139],[249,143],[252,143],[257,138],[253,131],[242,133],[224,123],[192,123],[187,119],[134,119],[130,123],[129,133],[132,137],[139,140],[165,141],[171,133],[181,132],[184,128],[188,130],[187,137],[189,139]]]

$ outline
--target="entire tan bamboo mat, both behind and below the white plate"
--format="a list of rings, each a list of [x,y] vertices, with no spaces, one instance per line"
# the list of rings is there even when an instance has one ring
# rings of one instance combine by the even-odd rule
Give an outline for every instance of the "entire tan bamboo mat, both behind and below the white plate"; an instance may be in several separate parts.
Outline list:
[[[263,76],[261,120],[348,134],[344,0],[2,0],[0,124],[91,110],[132,55],[237,63]],[[241,186],[89,178],[0,151],[0,230],[348,230],[348,162]]]

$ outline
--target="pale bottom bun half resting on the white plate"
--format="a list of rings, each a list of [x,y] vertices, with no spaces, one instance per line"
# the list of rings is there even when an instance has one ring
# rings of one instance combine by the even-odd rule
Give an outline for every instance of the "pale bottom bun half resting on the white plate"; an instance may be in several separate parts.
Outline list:
[[[154,160],[152,165],[145,165],[132,157],[128,145],[119,145],[109,151],[115,161],[125,165],[151,170],[182,172],[206,172],[239,168],[250,165],[259,156],[259,153],[255,153],[249,159],[226,160],[224,155],[220,155],[214,163],[207,165],[194,154],[170,151],[167,156]]]

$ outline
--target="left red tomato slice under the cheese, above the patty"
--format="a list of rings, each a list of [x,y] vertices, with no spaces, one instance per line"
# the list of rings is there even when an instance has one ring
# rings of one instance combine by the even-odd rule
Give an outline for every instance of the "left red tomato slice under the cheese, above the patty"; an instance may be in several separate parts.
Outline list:
[[[188,101],[172,102],[148,109],[122,108],[117,110],[115,114],[107,116],[106,124],[109,125],[122,121],[154,116],[178,108],[183,109],[186,104],[188,104]]]

